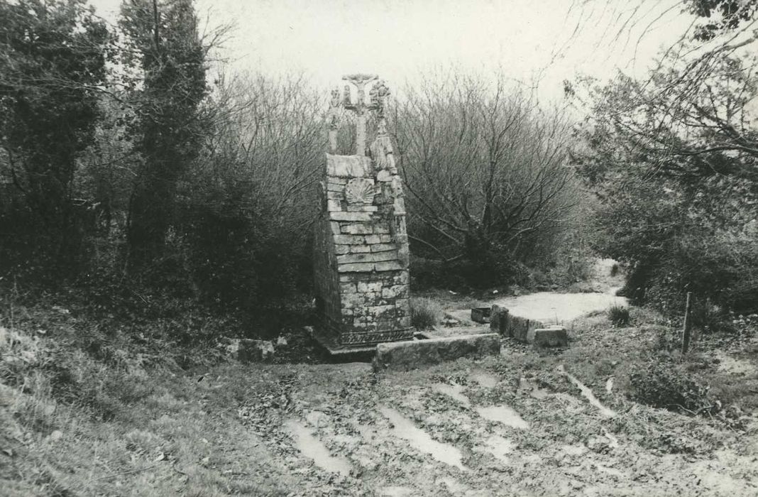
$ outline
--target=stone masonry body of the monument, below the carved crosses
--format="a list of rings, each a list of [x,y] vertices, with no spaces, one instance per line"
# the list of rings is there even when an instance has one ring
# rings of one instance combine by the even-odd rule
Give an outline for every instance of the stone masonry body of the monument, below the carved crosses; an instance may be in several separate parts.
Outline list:
[[[327,154],[316,227],[317,336],[334,348],[412,338],[408,235],[396,171]]]

